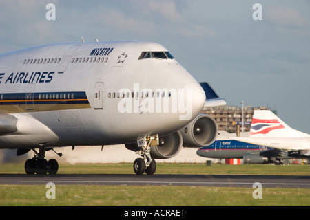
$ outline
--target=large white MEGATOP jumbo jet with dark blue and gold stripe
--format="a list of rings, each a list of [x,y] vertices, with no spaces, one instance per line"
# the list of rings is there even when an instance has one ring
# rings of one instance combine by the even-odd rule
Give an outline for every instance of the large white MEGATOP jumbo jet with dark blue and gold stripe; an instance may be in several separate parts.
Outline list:
[[[56,43],[1,54],[0,148],[33,150],[25,172],[53,174],[58,163],[44,158],[54,147],[125,144],[142,157],[134,172],[152,174],[154,159],[216,139],[215,120],[200,111],[225,101],[201,85],[207,89],[152,42]]]

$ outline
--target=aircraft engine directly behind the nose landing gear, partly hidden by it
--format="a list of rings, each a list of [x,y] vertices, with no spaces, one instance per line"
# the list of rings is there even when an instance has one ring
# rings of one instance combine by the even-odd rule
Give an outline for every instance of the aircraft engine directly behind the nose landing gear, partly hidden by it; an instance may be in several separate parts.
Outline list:
[[[176,131],[170,135],[159,138],[158,146],[151,146],[152,159],[169,159],[176,156],[182,148],[182,135]],[[125,147],[131,151],[139,151],[138,144],[125,144]]]

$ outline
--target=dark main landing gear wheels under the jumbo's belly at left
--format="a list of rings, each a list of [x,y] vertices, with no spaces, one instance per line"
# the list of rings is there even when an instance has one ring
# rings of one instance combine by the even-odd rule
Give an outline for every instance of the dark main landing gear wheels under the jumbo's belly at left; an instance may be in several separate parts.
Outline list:
[[[58,162],[56,159],[50,159],[47,161],[44,159],[45,157],[45,148],[40,148],[39,153],[35,150],[32,149],[35,153],[34,157],[32,159],[27,159],[25,162],[25,172],[27,174],[56,174],[58,171]],[[54,151],[54,149],[52,149]],[[56,151],[54,151],[56,153]],[[59,157],[62,156],[61,153],[56,153],[59,155]]]

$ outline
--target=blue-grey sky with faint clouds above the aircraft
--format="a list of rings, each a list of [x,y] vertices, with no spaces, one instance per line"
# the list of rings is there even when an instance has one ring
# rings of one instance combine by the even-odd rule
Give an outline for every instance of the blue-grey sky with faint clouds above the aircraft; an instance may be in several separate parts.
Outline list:
[[[45,6],[54,3],[56,20]],[[254,21],[254,3],[262,21]],[[4,0],[0,53],[45,43],[146,40],[161,43],[227,104],[268,105],[310,133],[310,1]]]

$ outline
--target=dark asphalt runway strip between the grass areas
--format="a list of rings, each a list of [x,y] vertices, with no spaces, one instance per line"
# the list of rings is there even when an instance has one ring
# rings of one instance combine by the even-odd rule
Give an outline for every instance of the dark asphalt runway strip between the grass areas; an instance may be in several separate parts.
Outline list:
[[[216,186],[310,188],[310,176],[285,175],[130,175],[130,174],[57,174],[26,175],[0,174],[0,184],[34,185],[53,182],[59,185],[109,185],[109,186]]]

